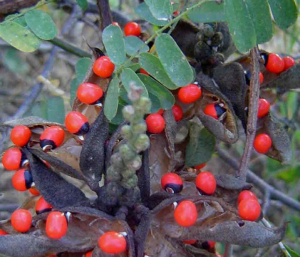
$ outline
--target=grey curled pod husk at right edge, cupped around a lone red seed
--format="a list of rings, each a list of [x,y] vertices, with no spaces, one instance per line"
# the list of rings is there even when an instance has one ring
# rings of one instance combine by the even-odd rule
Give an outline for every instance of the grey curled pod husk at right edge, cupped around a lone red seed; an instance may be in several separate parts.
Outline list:
[[[256,131],[256,135],[266,133],[272,140],[272,147],[265,155],[280,161],[282,164],[290,164],[292,158],[291,143],[282,124],[271,113],[262,118],[261,122],[262,128]]]

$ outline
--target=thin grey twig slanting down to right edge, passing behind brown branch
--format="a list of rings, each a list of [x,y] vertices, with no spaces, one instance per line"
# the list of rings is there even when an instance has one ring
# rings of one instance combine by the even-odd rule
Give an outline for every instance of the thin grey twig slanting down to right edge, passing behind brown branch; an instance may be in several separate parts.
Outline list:
[[[238,167],[239,167],[238,161],[235,158],[233,158],[231,155],[229,155],[227,152],[225,152],[218,146],[216,147],[216,150],[217,150],[219,157],[225,163],[227,163],[229,166],[231,166],[235,170],[238,169]],[[260,177],[258,177],[256,174],[254,174],[249,169],[247,170],[247,181],[255,184],[255,186],[260,188],[262,191],[268,190],[270,193],[270,196],[272,198],[280,200],[286,206],[289,206],[295,210],[300,211],[300,202],[294,200],[293,198],[282,193],[281,191],[275,189],[274,187],[272,187],[271,185],[266,183],[264,180],[262,180]]]

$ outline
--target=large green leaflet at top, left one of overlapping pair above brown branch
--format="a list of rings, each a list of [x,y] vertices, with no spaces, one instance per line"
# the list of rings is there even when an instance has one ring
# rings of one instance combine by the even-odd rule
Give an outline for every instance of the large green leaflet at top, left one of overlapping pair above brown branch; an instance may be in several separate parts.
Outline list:
[[[224,13],[236,48],[245,52],[256,45],[254,25],[245,0],[224,2]]]

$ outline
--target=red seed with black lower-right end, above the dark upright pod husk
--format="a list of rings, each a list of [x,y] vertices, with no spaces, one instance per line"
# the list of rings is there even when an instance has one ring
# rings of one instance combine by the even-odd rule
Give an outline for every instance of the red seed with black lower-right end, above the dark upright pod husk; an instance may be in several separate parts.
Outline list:
[[[65,117],[64,123],[68,132],[78,134],[83,127],[87,126],[88,120],[80,112],[69,112]],[[88,129],[84,129],[84,131],[82,132],[84,132],[83,134],[85,134],[88,132]]]

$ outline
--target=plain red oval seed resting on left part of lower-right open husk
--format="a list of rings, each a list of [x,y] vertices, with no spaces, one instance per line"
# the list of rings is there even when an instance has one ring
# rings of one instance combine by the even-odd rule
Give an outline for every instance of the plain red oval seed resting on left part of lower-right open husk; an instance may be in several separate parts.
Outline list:
[[[189,200],[181,201],[174,211],[176,222],[184,227],[192,226],[196,222],[197,216],[196,205]]]

